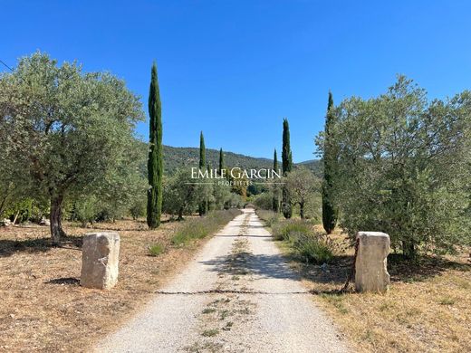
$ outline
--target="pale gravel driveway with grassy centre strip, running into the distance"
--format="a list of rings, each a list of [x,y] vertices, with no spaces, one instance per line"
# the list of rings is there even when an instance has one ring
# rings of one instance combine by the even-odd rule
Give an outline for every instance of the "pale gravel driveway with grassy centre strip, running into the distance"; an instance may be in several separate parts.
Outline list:
[[[99,352],[346,352],[252,210]]]

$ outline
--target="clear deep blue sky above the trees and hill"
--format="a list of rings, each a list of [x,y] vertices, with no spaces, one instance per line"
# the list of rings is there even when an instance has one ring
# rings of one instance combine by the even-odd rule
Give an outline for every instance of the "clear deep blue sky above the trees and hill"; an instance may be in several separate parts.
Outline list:
[[[80,3],[80,4],[79,4]],[[159,65],[164,143],[312,159],[327,92],[377,95],[403,73],[445,98],[471,88],[469,1],[0,1],[0,59],[41,50],[143,97]],[[4,71],[5,68],[0,70]],[[147,138],[147,124],[138,132]]]

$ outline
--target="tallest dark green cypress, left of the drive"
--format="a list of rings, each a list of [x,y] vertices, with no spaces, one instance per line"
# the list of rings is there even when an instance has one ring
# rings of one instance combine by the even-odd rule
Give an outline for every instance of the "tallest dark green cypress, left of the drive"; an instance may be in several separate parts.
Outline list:
[[[154,62],[150,72],[149,88],[149,191],[147,223],[150,229],[157,228],[160,224],[160,214],[162,213],[163,169],[162,106],[160,103],[157,65]]]

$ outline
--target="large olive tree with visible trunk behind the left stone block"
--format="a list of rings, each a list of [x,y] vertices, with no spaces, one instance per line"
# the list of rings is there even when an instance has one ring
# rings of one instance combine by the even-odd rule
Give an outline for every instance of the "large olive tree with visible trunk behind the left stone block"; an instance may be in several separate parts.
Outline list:
[[[41,52],[3,73],[0,91],[3,146],[24,162],[35,192],[50,199],[51,234],[59,243],[67,196],[118,192],[122,168],[138,172],[127,156],[135,123],[143,119],[139,99],[110,73],[58,66]]]

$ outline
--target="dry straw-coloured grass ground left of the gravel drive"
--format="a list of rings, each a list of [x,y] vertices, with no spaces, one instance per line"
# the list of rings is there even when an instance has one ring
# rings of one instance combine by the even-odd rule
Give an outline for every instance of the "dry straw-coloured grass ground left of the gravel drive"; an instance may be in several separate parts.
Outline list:
[[[43,226],[0,228],[0,351],[88,351],[103,335],[136,312],[184,265],[202,243],[175,248],[170,238],[178,222],[149,231],[144,222],[95,224],[94,229],[65,224],[68,240],[49,244]],[[80,287],[82,234],[118,231],[120,279],[111,291]],[[149,256],[159,243],[165,252]]]

